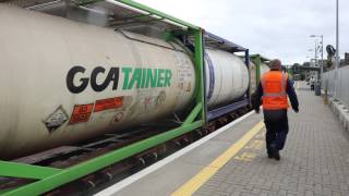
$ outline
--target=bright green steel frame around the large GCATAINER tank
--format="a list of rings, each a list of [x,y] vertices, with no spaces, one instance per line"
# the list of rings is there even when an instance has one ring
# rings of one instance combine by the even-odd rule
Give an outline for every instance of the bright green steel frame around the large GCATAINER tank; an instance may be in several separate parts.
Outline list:
[[[96,2],[96,1],[93,1]],[[173,16],[167,15],[163,12],[151,9],[141,3],[131,0],[118,0],[129,8],[137,9],[144,12],[152,13],[158,17],[170,21],[172,25],[185,26],[182,29],[185,33],[193,35],[194,41],[194,66],[196,72],[196,91],[195,91],[195,107],[181,126],[169,130],[161,134],[155,135],[147,139],[131,144],[115,151],[105,154],[85,162],[75,164],[67,169],[56,169],[49,167],[32,166],[12,161],[0,161],[0,176],[21,177],[35,180],[32,183],[23,185],[17,188],[11,188],[0,192],[3,195],[40,195],[50,192],[63,184],[75,181],[80,177],[88,175],[103,168],[117,163],[125,158],[140,154],[159,144],[179,137],[185,133],[192,132],[206,122],[205,113],[205,98],[204,98],[204,56],[203,56],[203,29],[184,21],[178,20]],[[163,21],[164,22],[164,21]]]

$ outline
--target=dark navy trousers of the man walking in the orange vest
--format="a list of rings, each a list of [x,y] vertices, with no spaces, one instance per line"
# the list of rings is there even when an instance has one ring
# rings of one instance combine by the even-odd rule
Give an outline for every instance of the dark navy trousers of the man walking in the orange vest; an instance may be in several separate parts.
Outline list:
[[[266,127],[266,149],[281,150],[288,134],[287,110],[264,110],[264,123]]]

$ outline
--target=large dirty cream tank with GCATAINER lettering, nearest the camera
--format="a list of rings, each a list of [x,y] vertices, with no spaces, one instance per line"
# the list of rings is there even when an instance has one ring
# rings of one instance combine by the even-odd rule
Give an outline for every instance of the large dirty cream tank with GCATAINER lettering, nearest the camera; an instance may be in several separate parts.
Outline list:
[[[191,59],[164,48],[176,44],[7,5],[0,25],[0,159],[164,118],[193,97]]]

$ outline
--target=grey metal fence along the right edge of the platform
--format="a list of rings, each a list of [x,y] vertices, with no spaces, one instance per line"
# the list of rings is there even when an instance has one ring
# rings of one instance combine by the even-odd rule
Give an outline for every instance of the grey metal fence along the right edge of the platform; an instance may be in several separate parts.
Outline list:
[[[335,70],[323,74],[323,89],[327,87],[328,95],[335,96]],[[349,106],[349,66],[338,69],[337,99]]]

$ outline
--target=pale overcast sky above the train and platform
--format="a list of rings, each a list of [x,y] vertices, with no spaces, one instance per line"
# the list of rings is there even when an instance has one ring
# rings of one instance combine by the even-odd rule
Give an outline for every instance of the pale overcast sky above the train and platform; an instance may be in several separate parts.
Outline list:
[[[136,0],[202,26],[251,53],[292,64],[314,57],[314,38],[336,45],[336,0]],[[349,0],[339,0],[339,53],[349,52]],[[324,59],[327,52],[324,49]],[[309,60],[309,59],[308,59]]]

